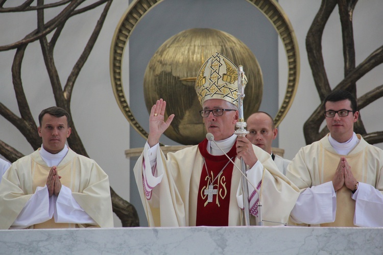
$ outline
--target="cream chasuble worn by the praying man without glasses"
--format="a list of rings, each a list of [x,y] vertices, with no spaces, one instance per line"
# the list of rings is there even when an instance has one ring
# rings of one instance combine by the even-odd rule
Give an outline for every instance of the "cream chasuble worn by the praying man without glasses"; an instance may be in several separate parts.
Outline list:
[[[39,151],[14,162],[0,184],[1,229],[8,229],[25,207],[36,189],[44,187],[51,167],[41,159]],[[81,208],[101,227],[113,227],[112,205],[108,175],[89,158],[69,149],[57,166],[62,185]],[[87,224],[56,223],[54,218],[30,228],[87,227]]]

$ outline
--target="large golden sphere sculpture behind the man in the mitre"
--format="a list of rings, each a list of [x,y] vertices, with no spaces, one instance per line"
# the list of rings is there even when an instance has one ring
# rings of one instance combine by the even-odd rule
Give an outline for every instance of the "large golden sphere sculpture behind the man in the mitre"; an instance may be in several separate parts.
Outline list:
[[[206,136],[199,111],[202,110],[194,89],[202,64],[214,53],[221,53],[236,66],[244,67],[245,119],[259,109],[263,79],[259,63],[240,40],[214,29],[189,29],[167,39],[155,52],[145,71],[143,93],[150,113],[156,100],[166,101],[165,119],[175,114],[164,135],[184,145],[194,145]]]

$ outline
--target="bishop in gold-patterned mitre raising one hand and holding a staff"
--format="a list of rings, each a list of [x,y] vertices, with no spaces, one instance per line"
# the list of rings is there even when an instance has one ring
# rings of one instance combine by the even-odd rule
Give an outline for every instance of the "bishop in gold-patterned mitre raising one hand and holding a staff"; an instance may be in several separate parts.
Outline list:
[[[278,170],[270,154],[234,134],[238,121],[237,68],[223,55],[211,56],[199,71],[196,92],[206,131],[261,193],[263,224],[288,220],[299,190]],[[185,95],[189,96],[189,95]],[[166,103],[157,100],[150,113],[150,134],[134,167],[149,226],[243,225],[241,173],[212,141],[175,153],[167,159],[159,146],[174,114],[164,121]],[[250,224],[258,214],[259,196],[249,184]]]

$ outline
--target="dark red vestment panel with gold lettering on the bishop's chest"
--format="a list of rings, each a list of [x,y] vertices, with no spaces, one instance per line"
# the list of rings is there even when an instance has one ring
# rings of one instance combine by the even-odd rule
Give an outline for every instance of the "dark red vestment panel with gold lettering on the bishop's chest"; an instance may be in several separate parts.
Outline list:
[[[205,158],[207,169],[211,182],[221,172],[222,168],[228,163],[229,159],[225,156],[213,156],[207,152],[207,139],[198,144],[198,148],[202,157]],[[227,153],[234,161],[236,156],[236,142]],[[217,190],[217,194],[213,195],[213,201],[207,202],[208,195],[205,190],[210,184],[207,176],[205,164],[201,172],[200,186],[197,198],[197,219],[196,226],[227,226],[229,224],[229,205],[231,176],[233,172],[233,163],[229,163],[222,171],[220,176],[213,182],[213,189]]]

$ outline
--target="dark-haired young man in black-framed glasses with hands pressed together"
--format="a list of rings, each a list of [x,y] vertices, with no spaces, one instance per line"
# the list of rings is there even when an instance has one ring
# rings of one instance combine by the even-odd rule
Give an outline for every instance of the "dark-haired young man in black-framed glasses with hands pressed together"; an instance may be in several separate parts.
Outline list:
[[[336,90],[324,100],[330,131],[302,147],[286,177],[301,190],[294,223],[320,226],[383,226],[383,150],[353,132],[355,97]]]

